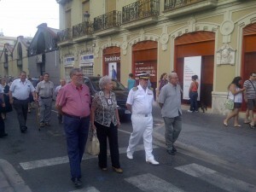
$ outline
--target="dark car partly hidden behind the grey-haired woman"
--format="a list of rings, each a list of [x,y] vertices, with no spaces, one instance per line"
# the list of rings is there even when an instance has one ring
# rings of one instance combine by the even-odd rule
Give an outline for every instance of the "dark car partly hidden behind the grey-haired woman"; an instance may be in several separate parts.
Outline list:
[[[86,84],[90,88],[90,95],[93,97],[96,92],[100,89],[99,80],[101,77],[84,77],[84,84]],[[126,108],[126,101],[128,97],[128,90],[125,88],[123,84],[121,84],[116,79],[112,79],[113,81],[113,92],[116,96],[118,109],[119,109],[119,117],[123,118],[131,118],[131,112]]]

